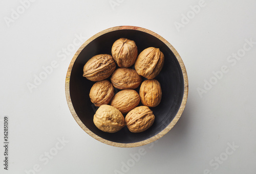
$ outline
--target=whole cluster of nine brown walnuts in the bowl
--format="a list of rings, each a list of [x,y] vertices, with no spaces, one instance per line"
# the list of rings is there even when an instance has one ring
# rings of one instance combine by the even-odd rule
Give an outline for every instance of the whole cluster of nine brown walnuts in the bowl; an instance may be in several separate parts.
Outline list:
[[[125,125],[133,133],[150,128],[155,115],[149,107],[158,106],[162,97],[160,83],[154,78],[163,63],[164,55],[159,48],[148,47],[138,55],[135,42],[126,38],[114,42],[112,56],[92,57],[83,67],[83,77],[96,82],[89,94],[91,102],[99,107],[93,118],[95,126],[109,133]],[[129,68],[134,64],[135,69]],[[111,82],[105,80],[110,76]],[[142,82],[141,76],[147,80]],[[139,86],[138,94],[134,89]],[[115,94],[114,87],[121,91]],[[140,102],[144,106],[138,106]]]

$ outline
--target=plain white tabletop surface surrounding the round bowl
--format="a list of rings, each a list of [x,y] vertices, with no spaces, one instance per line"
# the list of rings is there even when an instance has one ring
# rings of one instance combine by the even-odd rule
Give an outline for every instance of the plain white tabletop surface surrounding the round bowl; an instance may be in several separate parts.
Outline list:
[[[2,0],[0,173],[255,173],[256,44],[242,49],[246,39],[256,41],[256,1],[205,0],[195,14],[190,6],[198,4],[37,0],[25,9],[18,0]],[[176,27],[178,22],[183,26]],[[175,127],[159,141],[134,148],[90,137],[74,120],[65,96],[67,69],[82,44],[72,47],[76,35],[84,42],[122,25],[152,30],[170,42],[189,80],[187,105]],[[232,54],[238,52],[242,56],[236,60]],[[58,67],[29,90],[27,85],[52,62]],[[214,78],[212,71],[222,66],[228,72]],[[211,88],[205,85],[210,80]],[[8,171],[3,165],[5,115],[10,125]],[[61,146],[59,139],[66,143]],[[61,146],[57,152],[56,145]],[[46,160],[50,151],[55,156]]]

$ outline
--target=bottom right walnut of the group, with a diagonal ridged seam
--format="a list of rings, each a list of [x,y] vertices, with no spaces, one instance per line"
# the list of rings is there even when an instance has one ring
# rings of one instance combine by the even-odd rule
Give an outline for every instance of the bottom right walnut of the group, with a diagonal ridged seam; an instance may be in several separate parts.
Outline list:
[[[134,133],[143,132],[150,128],[155,121],[153,111],[147,106],[139,106],[125,116],[127,128]]]

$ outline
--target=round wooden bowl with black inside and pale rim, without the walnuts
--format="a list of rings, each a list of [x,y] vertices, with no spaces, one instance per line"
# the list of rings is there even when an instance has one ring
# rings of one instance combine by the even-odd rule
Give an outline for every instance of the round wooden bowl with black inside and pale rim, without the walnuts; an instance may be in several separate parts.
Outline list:
[[[163,69],[155,78],[161,84],[162,100],[157,107],[151,108],[155,115],[153,126],[141,133],[131,133],[127,127],[116,133],[100,131],[93,123],[97,108],[89,97],[90,89],[95,82],[82,76],[83,66],[89,59],[98,54],[111,55],[113,43],[122,37],[135,41],[138,54],[143,49],[153,46],[160,48],[165,57]],[[69,65],[65,88],[69,109],[85,132],[105,144],[136,147],[159,139],[174,127],[185,108],[188,80],[179,54],[164,38],[140,27],[120,26],[101,31],[81,45]]]

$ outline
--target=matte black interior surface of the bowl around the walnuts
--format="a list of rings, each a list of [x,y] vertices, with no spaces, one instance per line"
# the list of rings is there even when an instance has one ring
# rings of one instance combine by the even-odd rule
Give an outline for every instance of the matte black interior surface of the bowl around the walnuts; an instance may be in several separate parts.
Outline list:
[[[155,78],[161,84],[161,103],[151,108],[155,115],[153,126],[142,133],[131,133],[127,127],[116,133],[100,131],[93,123],[93,116],[97,110],[89,97],[91,87],[95,82],[82,76],[83,66],[93,56],[98,54],[111,55],[112,44],[119,38],[134,40],[138,47],[138,54],[147,47],[157,47],[164,54],[164,66]],[[131,67],[134,68],[134,65]],[[110,80],[110,78],[108,79]],[[145,80],[145,78],[143,79]],[[136,89],[139,91],[139,87]],[[119,90],[115,89],[115,92]],[[148,33],[137,30],[117,30],[103,34],[83,48],[74,62],[70,76],[70,96],[76,114],[83,124],[99,137],[118,143],[134,143],[146,140],[164,130],[176,116],[182,102],[184,81],[181,67],[173,52],[161,40]],[[139,106],[141,103],[139,104]],[[125,115],[124,115],[125,116]]]

